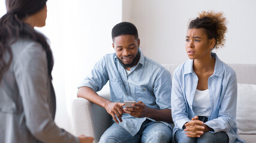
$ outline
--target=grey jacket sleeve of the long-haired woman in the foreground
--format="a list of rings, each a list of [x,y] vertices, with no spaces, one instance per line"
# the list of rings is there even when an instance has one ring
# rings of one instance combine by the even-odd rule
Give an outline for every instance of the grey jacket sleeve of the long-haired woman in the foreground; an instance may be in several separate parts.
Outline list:
[[[58,128],[50,113],[46,52],[37,42],[31,42],[24,48],[13,69],[22,98],[26,127],[41,142],[80,142],[71,133]]]

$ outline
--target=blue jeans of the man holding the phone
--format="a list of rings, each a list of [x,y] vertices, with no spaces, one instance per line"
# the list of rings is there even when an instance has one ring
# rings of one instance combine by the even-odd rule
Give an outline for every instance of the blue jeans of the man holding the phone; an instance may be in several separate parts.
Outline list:
[[[117,123],[113,123],[101,136],[100,143],[117,143],[117,142],[170,142],[171,129],[160,122],[145,120],[140,130],[132,136],[127,130]]]

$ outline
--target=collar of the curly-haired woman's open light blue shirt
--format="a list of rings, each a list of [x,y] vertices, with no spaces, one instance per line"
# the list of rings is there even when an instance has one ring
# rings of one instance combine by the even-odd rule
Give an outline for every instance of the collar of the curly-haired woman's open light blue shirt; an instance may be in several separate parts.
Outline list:
[[[213,58],[216,59],[215,61],[215,67],[214,67],[214,72],[213,72],[213,76],[219,76],[222,77],[222,71],[223,71],[223,66],[222,66],[222,61],[219,60],[218,56],[216,55],[216,53],[211,52],[210,55],[212,55]],[[193,70],[193,61],[194,60],[188,60],[184,67],[185,67],[185,71],[184,74],[188,74],[188,73],[192,73],[194,74],[194,70]]]

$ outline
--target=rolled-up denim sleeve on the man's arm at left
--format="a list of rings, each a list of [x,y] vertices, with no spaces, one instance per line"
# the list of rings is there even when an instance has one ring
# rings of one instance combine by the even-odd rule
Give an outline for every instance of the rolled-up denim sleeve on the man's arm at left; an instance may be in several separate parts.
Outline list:
[[[107,74],[106,66],[106,57],[101,58],[98,61],[91,73],[82,80],[78,88],[83,86],[88,86],[89,88],[94,89],[94,91],[100,91],[107,81],[109,81],[109,76]]]

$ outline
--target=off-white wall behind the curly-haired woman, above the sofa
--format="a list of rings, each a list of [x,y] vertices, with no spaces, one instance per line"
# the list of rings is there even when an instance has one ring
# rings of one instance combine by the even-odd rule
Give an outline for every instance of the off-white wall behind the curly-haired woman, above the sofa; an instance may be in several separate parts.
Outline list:
[[[216,53],[225,63],[256,64],[256,1],[123,0],[122,21],[137,26],[144,54],[159,63],[188,59],[185,34],[189,20],[203,10],[223,11],[228,32]]]

